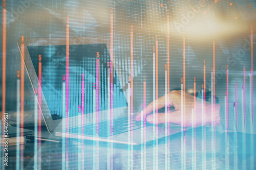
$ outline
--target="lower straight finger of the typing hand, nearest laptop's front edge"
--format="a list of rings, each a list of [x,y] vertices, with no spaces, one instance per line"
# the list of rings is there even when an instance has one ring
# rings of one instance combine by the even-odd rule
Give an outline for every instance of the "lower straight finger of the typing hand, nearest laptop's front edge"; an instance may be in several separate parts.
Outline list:
[[[165,113],[157,113],[155,115],[156,119],[155,119],[155,122],[154,122],[154,115],[151,114],[151,115],[148,115],[146,117],[146,121],[148,123],[151,123],[151,124],[162,124],[162,123],[165,123],[165,119],[167,120],[166,122],[167,123],[173,123],[173,124],[181,124],[181,113],[180,111],[175,111],[175,112],[170,112],[170,113],[167,113],[167,115],[165,116]]]

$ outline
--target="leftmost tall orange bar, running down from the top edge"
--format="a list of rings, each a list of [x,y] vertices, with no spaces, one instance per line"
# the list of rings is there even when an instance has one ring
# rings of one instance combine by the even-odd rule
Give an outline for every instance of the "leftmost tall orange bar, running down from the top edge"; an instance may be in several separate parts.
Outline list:
[[[6,98],[6,3],[5,0],[3,1],[3,43],[2,43],[2,114],[5,113],[5,98]],[[4,120],[4,118],[2,119]],[[4,125],[4,124],[3,124]]]

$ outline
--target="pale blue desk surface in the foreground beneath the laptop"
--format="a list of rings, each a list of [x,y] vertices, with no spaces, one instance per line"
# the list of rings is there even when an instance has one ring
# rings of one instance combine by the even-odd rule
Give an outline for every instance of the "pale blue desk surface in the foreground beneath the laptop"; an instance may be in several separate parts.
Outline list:
[[[8,169],[22,167],[22,164],[24,169],[33,169],[35,165],[42,169],[61,169],[62,166],[69,169],[156,169],[156,166],[159,169],[211,169],[214,166],[249,169],[254,166],[255,135],[216,132],[214,137],[211,128],[193,130],[185,131],[185,137],[183,132],[169,136],[169,143],[167,137],[159,139],[157,144],[148,142],[145,148],[113,143],[111,150],[110,143],[84,141],[81,144],[77,139],[68,139],[68,145],[65,145],[67,141],[41,142],[40,150],[35,151],[38,142],[28,140],[24,144],[23,159],[17,160],[17,146],[9,147]],[[19,148],[22,152],[22,146]]]

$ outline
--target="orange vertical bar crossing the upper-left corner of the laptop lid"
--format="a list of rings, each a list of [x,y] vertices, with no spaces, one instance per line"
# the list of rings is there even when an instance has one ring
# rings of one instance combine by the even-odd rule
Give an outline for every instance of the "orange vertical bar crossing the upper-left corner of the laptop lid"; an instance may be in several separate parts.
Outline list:
[[[23,137],[24,133],[24,61],[25,61],[25,45],[24,36],[22,35],[22,46],[21,46],[22,56],[20,57],[20,137]],[[20,165],[23,166],[23,148],[24,145],[20,145]]]

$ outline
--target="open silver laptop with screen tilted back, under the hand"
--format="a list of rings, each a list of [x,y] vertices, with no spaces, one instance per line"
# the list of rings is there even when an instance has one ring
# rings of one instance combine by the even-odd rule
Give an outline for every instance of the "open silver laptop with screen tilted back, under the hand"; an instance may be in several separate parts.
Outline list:
[[[66,43],[66,37],[17,40],[49,133],[136,145],[183,131],[175,124],[168,131],[166,124],[136,122],[130,110],[130,82],[114,61],[111,70],[108,39],[70,37],[69,67]]]

